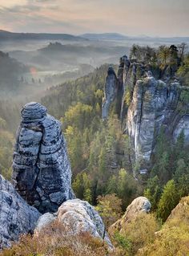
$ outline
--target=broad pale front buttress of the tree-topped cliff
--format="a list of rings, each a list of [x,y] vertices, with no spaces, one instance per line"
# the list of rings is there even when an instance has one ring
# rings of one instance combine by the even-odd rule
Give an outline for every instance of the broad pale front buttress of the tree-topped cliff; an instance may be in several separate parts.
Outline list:
[[[147,72],[147,78],[138,80],[135,85],[127,112],[127,130],[135,161],[141,161],[144,166],[151,160],[160,128],[170,124],[177,107],[179,91],[174,88],[175,84],[167,87],[163,81],[156,80],[151,71]]]

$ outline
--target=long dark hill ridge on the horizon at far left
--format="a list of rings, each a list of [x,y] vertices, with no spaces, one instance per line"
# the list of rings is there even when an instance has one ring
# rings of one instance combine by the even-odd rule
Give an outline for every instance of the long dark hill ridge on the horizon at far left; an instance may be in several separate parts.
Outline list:
[[[49,34],[49,33],[14,33],[0,30],[0,40],[74,40],[83,41],[82,37],[69,34]]]

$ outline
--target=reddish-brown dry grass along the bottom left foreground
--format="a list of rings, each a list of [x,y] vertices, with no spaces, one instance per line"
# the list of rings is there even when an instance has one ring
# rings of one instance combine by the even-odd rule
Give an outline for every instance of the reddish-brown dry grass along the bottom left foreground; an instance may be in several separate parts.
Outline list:
[[[66,235],[65,227],[54,222],[34,236],[22,235],[19,242],[0,256],[103,256],[108,248],[88,233]]]

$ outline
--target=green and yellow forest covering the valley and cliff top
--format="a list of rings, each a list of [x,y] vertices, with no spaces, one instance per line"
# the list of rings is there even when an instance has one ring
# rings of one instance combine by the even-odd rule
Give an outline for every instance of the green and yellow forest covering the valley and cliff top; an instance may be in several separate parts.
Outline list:
[[[183,43],[174,47],[161,46],[155,49],[133,45],[130,59],[149,63],[154,70],[163,70],[170,65],[181,86],[187,87],[187,46]],[[139,248],[151,243],[148,239],[155,230],[159,230],[181,198],[189,194],[189,146],[184,144],[183,132],[172,143],[162,129],[157,138],[151,172],[147,177],[139,175],[135,179],[132,173],[133,169],[137,169],[137,163],[133,165],[131,161],[133,152],[127,133],[123,131],[123,122],[113,108],[108,119],[102,120],[103,88],[109,66],[104,64],[74,81],[50,87],[42,96],[41,103],[62,123],[73,175],[72,188],[76,197],[95,205],[107,221],[107,228],[123,215],[135,197],[145,196],[151,201],[151,214],[147,219],[144,217],[141,223],[144,228],[147,222],[151,230],[143,237],[142,244],[135,242],[135,238],[141,236],[136,231],[140,225],[139,220],[131,223],[130,230],[127,230],[129,234],[115,235],[115,243],[120,250],[118,255],[134,255]],[[111,66],[115,71],[118,70],[117,65]],[[127,94],[126,104],[130,102],[128,97]],[[182,104],[179,108],[185,111],[189,94],[184,92],[180,97]],[[20,105],[0,101],[0,173],[9,180]],[[115,213],[113,219],[112,213]],[[185,227],[182,228],[180,233],[185,232]],[[130,240],[126,239],[128,237]],[[156,238],[151,239],[158,248]],[[183,238],[179,239],[182,241]]]

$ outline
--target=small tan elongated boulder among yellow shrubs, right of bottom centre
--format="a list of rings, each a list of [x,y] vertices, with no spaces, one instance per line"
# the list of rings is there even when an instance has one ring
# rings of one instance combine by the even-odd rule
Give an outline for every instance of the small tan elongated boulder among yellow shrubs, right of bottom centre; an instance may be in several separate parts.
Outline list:
[[[131,205],[127,206],[127,210],[118,221],[116,221],[109,228],[109,233],[114,234],[115,231],[122,231],[127,223],[135,219],[140,213],[149,213],[151,210],[151,203],[147,197],[137,197],[131,202]]]

